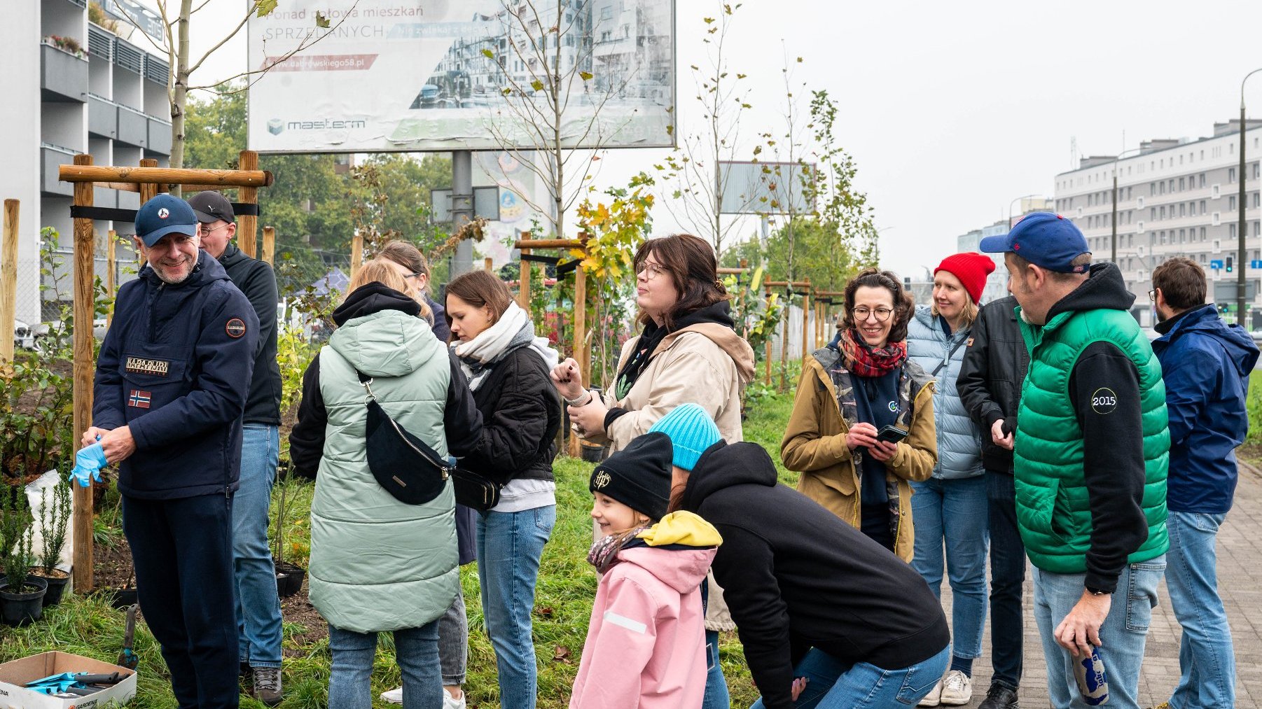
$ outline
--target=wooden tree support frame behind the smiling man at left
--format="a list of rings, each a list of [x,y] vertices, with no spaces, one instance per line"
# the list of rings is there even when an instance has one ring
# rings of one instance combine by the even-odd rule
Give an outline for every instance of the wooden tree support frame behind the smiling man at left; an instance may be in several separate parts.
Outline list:
[[[241,170],[197,170],[159,168],[156,160],[140,160],[139,168],[93,165],[91,155],[74,155],[73,165],[62,165],[58,179],[74,184],[74,207],[92,207],[93,189],[122,189],[140,193],[141,204],[170,185],[182,188],[228,189],[240,188],[239,199],[245,204],[259,203],[259,188],[270,187],[271,173],[259,170],[259,154],[242,150]],[[130,187],[129,187],[130,185]],[[256,214],[242,214],[237,220],[240,249],[249,256],[255,254]],[[96,251],[95,230],[91,217],[74,217],[74,434],[78,440],[92,421],[92,318],[96,302],[92,286],[96,276],[93,259]],[[110,252],[114,242],[111,238]],[[110,295],[114,295],[111,291]],[[73,582],[81,593],[92,590],[92,488],[74,486],[74,517],[72,539],[74,544]]]

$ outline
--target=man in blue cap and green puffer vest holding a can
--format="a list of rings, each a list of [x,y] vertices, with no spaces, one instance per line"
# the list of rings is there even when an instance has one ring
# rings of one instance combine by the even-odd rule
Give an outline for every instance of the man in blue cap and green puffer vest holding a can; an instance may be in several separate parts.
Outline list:
[[[1030,349],[1013,472],[1051,704],[1070,706],[1073,664],[1099,647],[1109,706],[1136,708],[1169,548],[1161,365],[1070,220],[1030,214],[981,250],[1005,254]]]

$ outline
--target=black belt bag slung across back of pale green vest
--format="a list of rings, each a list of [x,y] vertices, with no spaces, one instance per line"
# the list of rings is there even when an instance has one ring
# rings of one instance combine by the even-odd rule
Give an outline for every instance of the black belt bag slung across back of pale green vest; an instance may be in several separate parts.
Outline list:
[[[424,505],[434,500],[447,487],[456,466],[386,414],[372,394],[372,377],[358,370],[355,373],[367,392],[363,404],[369,409],[369,419],[363,438],[372,477],[399,502]]]

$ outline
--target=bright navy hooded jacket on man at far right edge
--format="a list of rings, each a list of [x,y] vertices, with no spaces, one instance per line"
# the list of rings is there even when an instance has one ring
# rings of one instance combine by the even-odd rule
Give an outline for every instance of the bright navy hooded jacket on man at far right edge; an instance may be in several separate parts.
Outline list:
[[[1166,382],[1170,413],[1172,512],[1222,513],[1235,493],[1235,447],[1249,428],[1246,400],[1258,358],[1253,338],[1201,305],[1157,325],[1152,343]]]

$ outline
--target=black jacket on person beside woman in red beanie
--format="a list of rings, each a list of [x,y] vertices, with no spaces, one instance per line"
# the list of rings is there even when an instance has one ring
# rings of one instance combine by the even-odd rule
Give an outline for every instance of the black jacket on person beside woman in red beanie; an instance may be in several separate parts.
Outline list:
[[[982,308],[955,381],[964,407],[982,426],[982,466],[1010,476],[1012,452],[994,444],[991,426],[1003,419],[1003,433],[1016,430],[1021,382],[1030,368],[1016,307],[1017,299],[1010,295]]]

